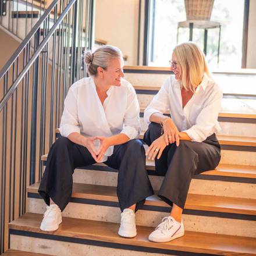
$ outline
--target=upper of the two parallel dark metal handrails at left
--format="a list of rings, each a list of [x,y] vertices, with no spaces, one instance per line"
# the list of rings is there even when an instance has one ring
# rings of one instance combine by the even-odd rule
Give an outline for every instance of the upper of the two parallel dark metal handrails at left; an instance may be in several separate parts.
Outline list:
[[[16,51],[13,53],[13,55],[10,57],[9,61],[6,62],[5,66],[0,70],[0,79],[4,76],[4,74],[9,70],[10,66],[12,66],[13,62],[15,62],[17,56],[19,56],[23,49],[26,47],[26,45],[29,43],[35,32],[40,28],[41,24],[44,22],[44,20],[48,17],[49,13],[51,13],[52,9],[55,8],[57,5],[58,0],[52,1],[51,5],[45,10],[44,14],[40,17],[40,19],[35,23],[33,29],[30,30],[30,32],[27,34],[26,38],[22,41],[22,43],[19,45],[19,47],[16,49]]]

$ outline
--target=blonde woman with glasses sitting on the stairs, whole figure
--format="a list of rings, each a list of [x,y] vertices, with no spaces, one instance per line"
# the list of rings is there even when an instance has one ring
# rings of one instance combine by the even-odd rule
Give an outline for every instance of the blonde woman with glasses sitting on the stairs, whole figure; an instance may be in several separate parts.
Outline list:
[[[149,236],[165,242],[184,235],[182,212],[194,175],[215,169],[221,159],[216,138],[222,91],[212,80],[205,55],[193,42],[177,45],[165,81],[145,109],[149,124],[144,141],[146,155],[155,159],[158,175],[165,176],[158,196],[172,206]],[[169,111],[170,117],[163,115]]]

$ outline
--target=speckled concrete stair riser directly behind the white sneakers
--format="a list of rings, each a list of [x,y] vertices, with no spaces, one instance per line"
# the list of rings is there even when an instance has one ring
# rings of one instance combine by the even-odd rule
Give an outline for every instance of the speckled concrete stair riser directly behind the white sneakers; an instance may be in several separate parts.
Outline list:
[[[38,198],[28,198],[28,205],[28,212],[44,214],[46,210],[45,202]],[[62,215],[78,219],[120,223],[120,213],[118,207],[69,202]],[[165,216],[168,216],[168,212],[138,210],[136,224],[155,227]],[[256,237],[255,221],[189,214],[183,214],[183,221],[187,231]]]

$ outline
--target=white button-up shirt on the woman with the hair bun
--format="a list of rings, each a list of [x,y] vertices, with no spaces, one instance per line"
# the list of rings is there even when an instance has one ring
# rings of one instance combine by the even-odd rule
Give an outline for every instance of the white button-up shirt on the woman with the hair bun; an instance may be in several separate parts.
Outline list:
[[[63,137],[77,132],[86,137],[110,137],[119,133],[130,139],[140,134],[140,106],[131,84],[122,79],[121,86],[106,91],[104,104],[98,97],[93,77],[74,83],[65,98],[59,130]],[[105,155],[113,154],[113,146]]]

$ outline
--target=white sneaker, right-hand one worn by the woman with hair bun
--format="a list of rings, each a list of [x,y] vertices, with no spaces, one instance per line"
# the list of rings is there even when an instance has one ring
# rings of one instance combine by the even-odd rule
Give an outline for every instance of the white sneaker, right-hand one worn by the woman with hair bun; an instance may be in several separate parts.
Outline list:
[[[132,209],[123,210],[118,234],[123,237],[134,237],[137,235],[135,214]]]

